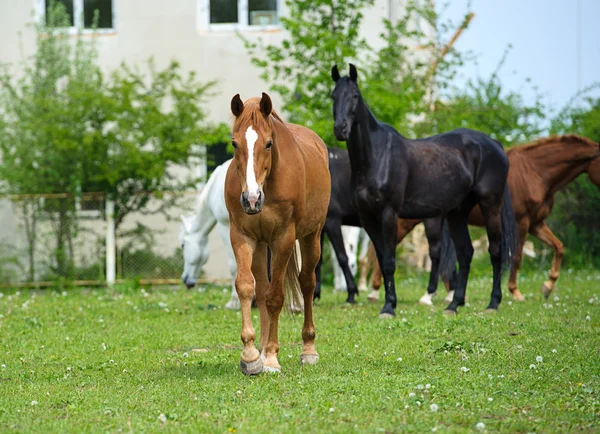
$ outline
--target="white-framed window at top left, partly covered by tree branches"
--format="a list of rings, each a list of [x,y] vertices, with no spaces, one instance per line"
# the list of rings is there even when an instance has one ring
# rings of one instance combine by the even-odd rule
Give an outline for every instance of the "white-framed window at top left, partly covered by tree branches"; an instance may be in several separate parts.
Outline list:
[[[69,14],[70,30],[91,31],[95,15],[98,14],[97,31],[112,32],[115,28],[114,3],[116,0],[36,0],[36,14],[46,21],[50,5],[61,3]]]

